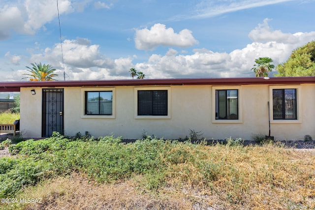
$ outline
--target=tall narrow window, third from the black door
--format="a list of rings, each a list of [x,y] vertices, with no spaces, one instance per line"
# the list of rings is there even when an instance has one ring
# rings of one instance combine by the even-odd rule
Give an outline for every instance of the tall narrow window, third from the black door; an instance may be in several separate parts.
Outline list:
[[[238,120],[238,90],[216,90],[216,120]]]

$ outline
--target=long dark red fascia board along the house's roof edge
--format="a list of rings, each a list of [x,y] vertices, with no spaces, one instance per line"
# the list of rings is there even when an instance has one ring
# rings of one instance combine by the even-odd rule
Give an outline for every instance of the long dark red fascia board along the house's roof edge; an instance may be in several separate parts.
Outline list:
[[[20,88],[104,87],[104,86],[171,86],[171,85],[285,85],[314,84],[315,77],[245,77],[245,78],[199,78],[199,79],[143,79],[143,80],[85,80],[0,82],[0,91],[20,91]]]

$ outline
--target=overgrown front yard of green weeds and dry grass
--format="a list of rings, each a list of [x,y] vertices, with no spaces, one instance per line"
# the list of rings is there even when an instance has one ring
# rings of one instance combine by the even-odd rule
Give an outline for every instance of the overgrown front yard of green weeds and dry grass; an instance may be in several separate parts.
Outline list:
[[[43,199],[4,204],[7,209],[315,208],[313,152],[242,141],[207,146],[147,138],[125,144],[113,136],[55,133],[9,146],[17,155],[0,158],[0,198]]]

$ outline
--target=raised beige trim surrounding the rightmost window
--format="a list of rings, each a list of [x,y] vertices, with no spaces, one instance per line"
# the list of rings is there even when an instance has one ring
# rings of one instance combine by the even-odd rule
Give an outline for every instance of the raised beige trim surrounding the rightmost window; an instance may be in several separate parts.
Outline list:
[[[296,90],[296,119],[275,119],[273,112],[273,90],[285,90],[285,89],[295,89]],[[302,123],[302,87],[300,85],[278,85],[269,86],[269,104],[270,104],[270,123]]]

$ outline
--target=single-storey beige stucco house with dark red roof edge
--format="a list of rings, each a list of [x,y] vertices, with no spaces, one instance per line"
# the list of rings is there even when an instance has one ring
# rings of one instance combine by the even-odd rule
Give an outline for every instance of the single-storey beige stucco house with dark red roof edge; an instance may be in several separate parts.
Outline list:
[[[315,77],[0,82],[20,91],[25,137],[207,139],[315,136]],[[268,112],[268,102],[270,111]]]

